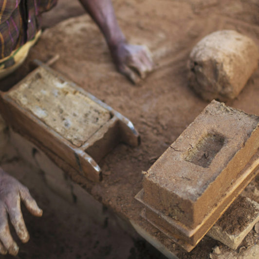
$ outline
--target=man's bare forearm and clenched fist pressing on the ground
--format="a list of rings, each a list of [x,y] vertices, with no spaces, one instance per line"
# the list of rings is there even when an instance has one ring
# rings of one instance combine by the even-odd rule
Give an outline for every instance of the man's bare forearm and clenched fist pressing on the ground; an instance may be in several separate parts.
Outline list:
[[[111,56],[118,71],[133,83],[153,70],[153,62],[148,49],[140,45],[130,45],[123,35],[114,14],[111,0],[79,0],[102,31]]]

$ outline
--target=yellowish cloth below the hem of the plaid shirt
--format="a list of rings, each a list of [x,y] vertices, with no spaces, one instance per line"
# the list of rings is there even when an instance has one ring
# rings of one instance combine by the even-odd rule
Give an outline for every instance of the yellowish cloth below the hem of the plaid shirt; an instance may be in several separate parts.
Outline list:
[[[2,65],[2,66],[0,65],[0,79],[13,73],[16,69],[19,68],[19,66],[23,63],[25,58],[28,56],[29,50],[37,42],[40,35],[41,35],[41,30],[37,32],[37,34],[35,35],[35,37],[32,40],[26,42],[18,50],[14,50],[10,56],[0,59],[0,63],[8,60],[11,57],[13,57],[14,61],[15,61],[15,64],[8,68],[4,68],[4,65]]]

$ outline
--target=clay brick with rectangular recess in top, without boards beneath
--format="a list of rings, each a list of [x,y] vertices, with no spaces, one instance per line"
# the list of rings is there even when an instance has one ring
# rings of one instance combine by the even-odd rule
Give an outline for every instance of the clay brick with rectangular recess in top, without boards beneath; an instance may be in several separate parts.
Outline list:
[[[259,148],[259,117],[212,101],[151,166],[144,201],[194,227]]]

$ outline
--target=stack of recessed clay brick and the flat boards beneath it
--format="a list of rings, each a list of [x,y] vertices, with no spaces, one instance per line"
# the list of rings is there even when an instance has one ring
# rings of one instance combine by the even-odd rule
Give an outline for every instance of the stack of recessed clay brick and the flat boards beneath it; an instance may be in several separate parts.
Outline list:
[[[259,117],[212,101],[144,175],[142,216],[191,251],[259,171]]]

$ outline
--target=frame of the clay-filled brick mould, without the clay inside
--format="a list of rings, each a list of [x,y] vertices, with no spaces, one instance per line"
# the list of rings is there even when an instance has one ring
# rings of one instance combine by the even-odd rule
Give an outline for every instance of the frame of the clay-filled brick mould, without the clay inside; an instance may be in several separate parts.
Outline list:
[[[35,60],[35,63],[38,65],[38,67],[34,71],[28,74],[7,92],[0,92],[0,113],[2,117],[6,123],[10,125],[15,131],[18,131],[21,135],[34,142],[39,148],[40,146],[43,146],[44,148],[50,149],[58,157],[66,161],[81,175],[88,178],[89,180],[93,182],[101,181],[101,168],[92,158],[92,156],[86,152],[88,140],[79,148],[74,146],[70,141],[62,137],[54,129],[47,126],[34,114],[20,107],[12,98],[10,98],[10,96],[8,96],[8,93],[18,89],[19,86],[26,82],[28,78],[31,78],[38,73],[40,68],[43,68],[48,73],[53,74],[60,80],[66,81],[76,91],[87,96],[99,106],[110,112],[111,119],[100,128],[102,130],[97,130],[91,136],[90,139],[92,144],[94,144],[94,140],[97,141],[102,136],[104,136],[106,132],[105,130],[110,129],[111,127],[117,127],[119,141],[124,142],[132,147],[136,147],[140,144],[140,136],[138,131],[134,128],[132,122],[129,121],[129,119],[124,117],[118,111],[113,110],[109,105],[103,103],[91,93],[86,92],[82,88],[78,87],[74,82],[66,79],[62,74],[57,73],[55,70],[51,69],[41,61]],[[107,152],[103,152],[102,157],[106,155],[106,153]],[[102,157],[98,157],[98,160],[100,160]]]

